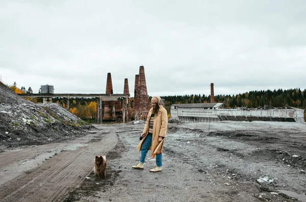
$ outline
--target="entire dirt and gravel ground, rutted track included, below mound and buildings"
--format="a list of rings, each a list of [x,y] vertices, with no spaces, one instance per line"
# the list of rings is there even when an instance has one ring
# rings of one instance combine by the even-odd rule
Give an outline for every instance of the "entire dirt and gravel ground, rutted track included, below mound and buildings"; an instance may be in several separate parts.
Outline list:
[[[5,150],[0,201],[306,201],[305,124],[169,124],[157,173],[149,155],[131,168],[143,127],[96,125],[69,142]],[[107,180],[92,171],[100,154]]]

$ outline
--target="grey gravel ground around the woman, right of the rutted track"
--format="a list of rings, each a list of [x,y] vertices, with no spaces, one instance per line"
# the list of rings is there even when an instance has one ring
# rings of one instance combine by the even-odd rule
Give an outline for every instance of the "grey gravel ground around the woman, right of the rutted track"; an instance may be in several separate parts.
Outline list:
[[[163,170],[157,173],[149,172],[155,166],[149,153],[145,169],[132,169],[144,123],[96,127],[117,131],[123,149],[108,168],[119,176],[78,201],[306,201],[304,124],[169,124]]]

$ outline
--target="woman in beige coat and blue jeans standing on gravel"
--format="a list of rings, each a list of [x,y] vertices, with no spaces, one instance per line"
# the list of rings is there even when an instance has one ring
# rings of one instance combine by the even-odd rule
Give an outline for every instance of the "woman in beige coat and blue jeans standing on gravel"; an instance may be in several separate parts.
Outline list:
[[[140,134],[143,138],[136,148],[138,152],[141,152],[140,161],[132,167],[143,169],[146,154],[150,149],[151,158],[156,157],[156,166],[150,169],[150,172],[159,172],[162,171],[162,151],[167,133],[168,114],[162,106],[160,97],[152,97],[151,104],[143,132]]]

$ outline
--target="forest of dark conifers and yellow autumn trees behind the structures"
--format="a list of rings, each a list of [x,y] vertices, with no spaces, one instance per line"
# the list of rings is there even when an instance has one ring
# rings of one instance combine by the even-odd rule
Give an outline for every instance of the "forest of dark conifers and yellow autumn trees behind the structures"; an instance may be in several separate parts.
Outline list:
[[[22,86],[20,89],[14,85],[9,86],[16,94],[33,93],[31,87],[28,90]],[[39,92],[40,93],[40,92]],[[183,95],[183,96],[161,96],[165,99],[165,108],[170,118],[170,106],[172,104],[185,104],[185,103],[209,103],[210,95]],[[238,95],[216,95],[214,96],[215,102],[224,103],[226,108],[262,108],[264,106],[269,107],[295,107],[304,109],[306,107],[306,89],[301,91],[298,89],[278,89],[278,90],[266,90],[266,91],[250,91]],[[151,97],[149,97],[149,100]],[[43,102],[42,98],[35,98],[33,102]],[[64,108],[66,107],[66,98],[52,98],[52,102],[58,103]],[[69,111],[82,120],[88,122],[95,122],[97,115],[96,98],[70,98],[69,99]],[[122,104],[122,100],[121,100]],[[133,98],[131,98],[131,109],[133,113]],[[306,112],[304,112],[304,118],[306,118]]]

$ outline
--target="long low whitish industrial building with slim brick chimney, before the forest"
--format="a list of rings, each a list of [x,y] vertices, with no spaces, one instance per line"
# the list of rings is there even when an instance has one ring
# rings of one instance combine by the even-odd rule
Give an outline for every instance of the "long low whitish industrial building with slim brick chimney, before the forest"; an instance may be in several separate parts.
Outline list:
[[[211,83],[211,103],[172,104],[170,118],[182,122],[281,121],[304,123],[304,110],[293,107],[225,109],[223,103],[214,102],[213,86],[214,84]]]

